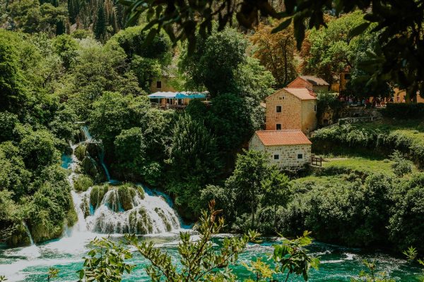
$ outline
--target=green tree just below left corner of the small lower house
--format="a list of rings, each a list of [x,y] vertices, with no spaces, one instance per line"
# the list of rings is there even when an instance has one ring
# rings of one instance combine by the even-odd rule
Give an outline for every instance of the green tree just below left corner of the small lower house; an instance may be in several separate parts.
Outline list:
[[[268,161],[261,152],[249,150],[239,154],[232,175],[225,186],[235,192],[235,202],[240,203],[240,212],[250,210],[251,225],[255,227],[254,215],[262,194],[262,180],[269,173]]]

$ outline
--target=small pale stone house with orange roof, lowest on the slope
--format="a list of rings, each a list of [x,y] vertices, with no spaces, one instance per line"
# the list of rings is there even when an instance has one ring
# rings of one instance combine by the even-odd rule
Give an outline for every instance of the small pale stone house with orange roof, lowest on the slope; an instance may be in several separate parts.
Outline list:
[[[269,164],[289,171],[310,164],[311,145],[300,130],[259,130],[249,141],[249,149],[263,152]]]

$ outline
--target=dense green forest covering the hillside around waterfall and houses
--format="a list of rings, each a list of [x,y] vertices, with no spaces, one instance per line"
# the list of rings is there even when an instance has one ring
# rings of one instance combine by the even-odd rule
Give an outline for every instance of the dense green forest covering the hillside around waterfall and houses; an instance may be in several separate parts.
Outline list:
[[[223,232],[295,238],[308,230],[326,243],[424,252],[420,118],[406,126],[416,133],[340,125],[311,138],[323,154],[368,150],[391,164],[386,171],[305,167],[293,175],[247,150],[264,127],[261,102],[300,74],[331,83],[348,66],[347,93],[391,97],[392,80],[367,83],[373,72],[363,64],[378,52],[381,32],[372,23],[353,35],[364,11],[326,13],[326,28],[307,30],[298,48],[293,23],[273,32],[280,19],[262,18],[253,30],[212,21],[211,34],[197,31],[193,46],[148,32],[146,13],[129,25],[127,8],[0,0],[0,243],[28,244],[25,228],[42,243],[76,223],[62,161],[86,125],[102,145],[78,147],[78,191],[107,180],[104,161],[113,179],[169,194],[187,222],[201,219],[214,200]],[[207,90],[211,104],[151,106],[151,84],[165,75],[179,91]]]

